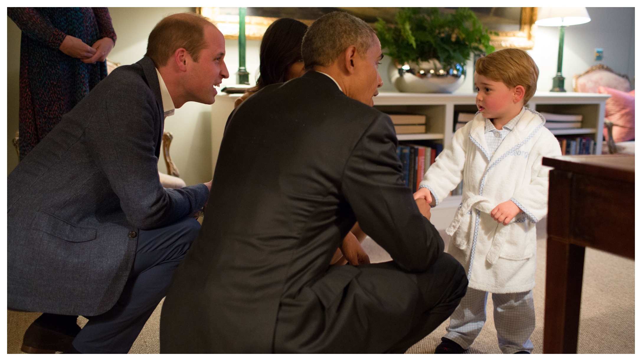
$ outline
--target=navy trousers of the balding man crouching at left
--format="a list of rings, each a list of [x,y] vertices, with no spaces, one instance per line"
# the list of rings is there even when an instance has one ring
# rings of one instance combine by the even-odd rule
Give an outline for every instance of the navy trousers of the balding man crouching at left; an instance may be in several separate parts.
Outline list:
[[[195,240],[194,218],[139,231],[134,266],[118,301],[107,312],[89,316],[73,346],[80,353],[128,353],[160,300],[178,263]]]

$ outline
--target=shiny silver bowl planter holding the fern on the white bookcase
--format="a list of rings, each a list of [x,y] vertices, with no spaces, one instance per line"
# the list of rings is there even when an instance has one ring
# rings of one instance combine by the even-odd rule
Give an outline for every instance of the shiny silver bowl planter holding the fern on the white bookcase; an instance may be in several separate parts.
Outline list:
[[[466,70],[464,64],[444,68],[437,59],[403,66],[393,60],[388,76],[400,92],[453,92],[464,84]]]

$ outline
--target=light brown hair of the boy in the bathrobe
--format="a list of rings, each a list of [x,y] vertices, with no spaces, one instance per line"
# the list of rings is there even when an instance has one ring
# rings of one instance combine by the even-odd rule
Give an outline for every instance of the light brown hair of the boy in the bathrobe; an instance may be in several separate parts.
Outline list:
[[[533,58],[520,49],[501,49],[479,58],[475,64],[475,72],[490,80],[502,82],[509,88],[523,86],[524,105],[537,89],[539,68]]]

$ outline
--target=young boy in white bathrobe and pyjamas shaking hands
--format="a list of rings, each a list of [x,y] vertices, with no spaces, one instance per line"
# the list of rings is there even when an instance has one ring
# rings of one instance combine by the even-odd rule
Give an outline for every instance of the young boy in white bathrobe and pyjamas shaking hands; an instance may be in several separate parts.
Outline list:
[[[503,353],[531,353],[535,330],[535,223],[546,215],[548,171],[542,157],[561,155],[546,121],[524,105],[537,87],[539,69],[519,49],[477,60],[479,109],[455,132],[415,193],[437,206],[460,181],[462,204],[446,229],[448,252],[468,272],[468,290],[450,318],[435,353],[462,353],[486,321],[492,293]]]

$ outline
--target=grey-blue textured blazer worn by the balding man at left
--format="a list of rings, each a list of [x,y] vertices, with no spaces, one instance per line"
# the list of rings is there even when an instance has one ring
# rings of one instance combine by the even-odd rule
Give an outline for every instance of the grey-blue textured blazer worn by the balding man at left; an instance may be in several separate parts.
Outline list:
[[[139,229],[207,201],[204,184],[164,189],[164,114],[154,64],[115,69],[18,164],[7,182],[8,307],[97,315],[118,299]]]

